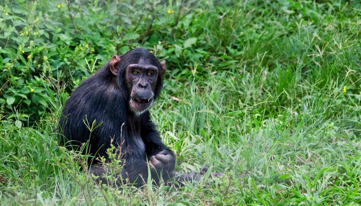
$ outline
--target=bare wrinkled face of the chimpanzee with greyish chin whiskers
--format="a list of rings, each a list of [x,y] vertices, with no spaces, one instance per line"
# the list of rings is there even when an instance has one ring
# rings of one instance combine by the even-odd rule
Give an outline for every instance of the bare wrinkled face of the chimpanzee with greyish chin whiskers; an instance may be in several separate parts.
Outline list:
[[[126,80],[129,88],[130,109],[139,116],[147,111],[154,102],[159,70],[156,66],[143,61],[130,64],[126,68]]]

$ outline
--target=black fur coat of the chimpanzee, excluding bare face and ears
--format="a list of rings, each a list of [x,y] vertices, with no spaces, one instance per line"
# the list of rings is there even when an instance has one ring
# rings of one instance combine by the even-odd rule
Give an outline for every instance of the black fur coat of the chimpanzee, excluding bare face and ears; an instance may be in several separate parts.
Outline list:
[[[81,146],[82,143],[89,141],[87,153],[108,158],[106,150],[110,147],[110,140],[113,138],[113,145],[121,147],[121,157],[126,160],[122,176],[129,176],[131,183],[137,179],[136,186],[142,185],[139,175],[143,175],[143,178],[148,176],[146,158],[149,159],[152,155],[167,150],[174,160],[168,171],[162,173],[164,179],[169,179],[167,174],[174,170],[175,155],[162,143],[156,126],[150,120],[149,112],[135,116],[129,109],[131,88],[127,87],[125,76],[127,65],[136,64],[141,59],[156,66],[159,71],[161,64],[152,53],[142,48],[131,50],[120,56],[120,59],[120,63],[116,66],[119,71],[118,76],[110,72],[108,63],[96,74],[84,80],[66,100],[59,121],[59,132],[63,135],[60,144]],[[162,85],[163,76],[162,72],[159,72],[154,99],[159,96]],[[96,125],[102,123],[92,133],[84,124],[86,116],[90,125],[93,120],[96,120]],[[104,173],[104,168],[91,168],[91,171],[101,175]],[[153,171],[152,178],[158,182],[156,173],[160,171]]]

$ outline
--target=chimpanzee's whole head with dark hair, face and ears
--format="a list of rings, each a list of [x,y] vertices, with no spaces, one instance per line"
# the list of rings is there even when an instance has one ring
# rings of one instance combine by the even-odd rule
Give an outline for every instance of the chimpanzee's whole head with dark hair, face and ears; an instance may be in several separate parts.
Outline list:
[[[136,48],[122,56],[114,55],[109,68],[134,114],[147,111],[162,89],[165,60],[160,63],[151,52]]]

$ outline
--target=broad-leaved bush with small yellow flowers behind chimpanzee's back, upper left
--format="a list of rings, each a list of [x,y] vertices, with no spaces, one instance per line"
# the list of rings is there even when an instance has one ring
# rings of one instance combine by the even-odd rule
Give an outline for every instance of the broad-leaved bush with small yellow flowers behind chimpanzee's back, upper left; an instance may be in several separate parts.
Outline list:
[[[20,111],[18,120],[34,123],[66,99],[52,90],[70,93],[114,53],[142,46],[168,59],[168,65],[177,63],[173,53],[191,56],[187,49],[197,38],[182,36],[177,40],[182,46],[164,39],[172,30],[180,35],[181,25],[193,16],[184,13],[195,4],[182,3],[178,17],[172,5],[167,10],[160,1],[5,2],[0,6],[0,100],[5,113]],[[171,27],[174,21],[178,27]]]

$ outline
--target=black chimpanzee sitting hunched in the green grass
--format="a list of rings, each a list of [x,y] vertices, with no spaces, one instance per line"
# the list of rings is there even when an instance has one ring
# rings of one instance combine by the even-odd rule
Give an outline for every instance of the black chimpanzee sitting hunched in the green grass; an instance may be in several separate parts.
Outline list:
[[[159,62],[143,48],[114,55],[66,100],[59,121],[59,132],[64,135],[60,144],[81,146],[88,142],[87,153],[108,158],[106,150],[113,138],[113,145],[120,148],[121,159],[125,160],[121,176],[135,186],[147,179],[147,163],[156,183],[160,174],[165,181],[176,176],[177,180],[190,180],[203,175],[207,168],[200,174],[179,176],[173,172],[175,155],[161,142],[151,121],[148,110],[160,94],[165,70],[165,61]],[[86,119],[102,124],[90,131]],[[90,167],[103,183],[105,170],[101,164]]]

